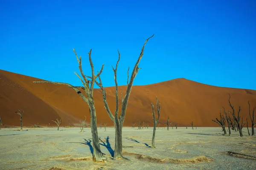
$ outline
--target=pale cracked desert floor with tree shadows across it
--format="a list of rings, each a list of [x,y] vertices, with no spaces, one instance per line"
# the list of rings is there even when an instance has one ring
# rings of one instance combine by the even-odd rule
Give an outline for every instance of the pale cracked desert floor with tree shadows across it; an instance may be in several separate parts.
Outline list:
[[[101,150],[107,159],[92,161],[91,130],[64,128],[6,128],[0,130],[1,170],[255,170],[256,136],[221,127],[178,127],[156,131],[157,148],[151,148],[153,128],[123,128],[123,156],[113,160],[115,130],[98,128]],[[108,139],[107,139],[108,138]],[[129,147],[130,146],[130,147]]]

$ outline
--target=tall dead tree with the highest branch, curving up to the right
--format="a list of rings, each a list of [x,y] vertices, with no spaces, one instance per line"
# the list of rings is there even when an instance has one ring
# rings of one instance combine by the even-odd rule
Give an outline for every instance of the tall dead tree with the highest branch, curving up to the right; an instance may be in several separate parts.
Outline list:
[[[126,93],[125,93],[125,97],[122,98],[122,108],[121,108],[121,113],[120,113],[119,117],[118,117],[118,111],[119,111],[118,84],[117,84],[117,76],[116,76],[117,66],[118,66],[118,62],[120,60],[120,53],[119,53],[119,51],[118,51],[118,60],[116,62],[116,68],[113,68],[113,66],[112,66],[112,69],[114,71],[114,81],[115,81],[115,85],[116,85],[116,110],[115,110],[115,116],[113,116],[113,114],[110,111],[110,108],[108,106],[108,102],[107,102],[107,99],[106,99],[106,91],[105,91],[105,88],[102,85],[102,81],[101,81],[100,77],[99,77],[99,82],[96,81],[96,84],[102,90],[103,102],[104,102],[104,105],[105,105],[105,109],[106,109],[106,111],[108,113],[108,116],[113,121],[113,123],[114,123],[114,125],[116,127],[116,129],[115,129],[114,159],[123,158],[123,156],[122,156],[122,127],[123,127],[123,123],[124,123],[124,120],[125,120],[125,113],[126,113],[126,109],[127,109],[127,105],[128,105],[128,99],[129,99],[129,96],[131,94],[131,88],[132,88],[134,79],[137,76],[138,71],[140,70],[138,65],[140,63],[141,58],[143,57],[145,44],[153,36],[154,36],[154,34],[145,41],[145,43],[144,43],[144,45],[142,47],[140,56],[139,56],[135,66],[134,66],[134,69],[133,69],[132,73],[131,73],[130,82],[128,82],[128,79],[129,79],[129,68],[128,68],[128,71],[127,71],[127,75],[128,75],[127,90],[126,90]],[[122,89],[121,89],[121,97],[122,97]]]

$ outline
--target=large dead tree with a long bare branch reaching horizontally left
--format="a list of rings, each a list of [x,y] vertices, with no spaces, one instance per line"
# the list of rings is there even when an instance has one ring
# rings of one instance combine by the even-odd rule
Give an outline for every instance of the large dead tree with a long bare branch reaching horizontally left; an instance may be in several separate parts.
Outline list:
[[[92,133],[92,139],[93,139],[93,161],[103,161],[103,159],[106,159],[101,150],[100,150],[100,145],[99,145],[99,136],[98,136],[98,130],[97,130],[97,119],[96,119],[96,109],[95,109],[95,105],[94,105],[94,99],[93,99],[93,89],[94,89],[94,83],[96,81],[96,79],[99,77],[99,75],[102,73],[103,71],[103,67],[104,64],[102,65],[101,70],[98,72],[97,75],[95,75],[94,73],[94,66],[93,66],[93,62],[91,59],[91,51],[88,53],[89,55],[89,61],[90,61],[90,66],[91,66],[91,71],[92,71],[92,76],[86,76],[82,70],[82,58],[78,57],[76,54],[75,49],[73,49],[75,55],[76,55],[76,59],[79,63],[79,71],[81,73],[81,76],[79,76],[79,74],[77,74],[75,72],[75,74],[77,75],[77,77],[79,77],[79,79],[81,80],[81,83],[83,86],[73,86],[70,85],[68,83],[63,83],[63,82],[49,82],[49,81],[38,81],[38,82],[34,82],[34,83],[51,83],[51,84],[55,84],[55,85],[67,85],[67,87],[69,88],[73,88],[76,93],[81,96],[81,98],[84,100],[84,102],[87,103],[87,105],[89,106],[89,110],[90,110],[90,118],[91,118],[91,131]],[[84,96],[81,91],[79,91],[79,89],[84,90],[85,95]]]

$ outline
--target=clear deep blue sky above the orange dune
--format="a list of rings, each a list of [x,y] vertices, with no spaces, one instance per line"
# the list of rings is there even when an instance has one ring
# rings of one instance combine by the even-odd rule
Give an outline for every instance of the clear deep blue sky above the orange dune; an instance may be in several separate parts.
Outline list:
[[[0,0],[0,69],[81,85],[73,53],[91,75],[105,64],[125,85],[145,40],[134,85],[186,78],[208,85],[256,90],[254,0]]]

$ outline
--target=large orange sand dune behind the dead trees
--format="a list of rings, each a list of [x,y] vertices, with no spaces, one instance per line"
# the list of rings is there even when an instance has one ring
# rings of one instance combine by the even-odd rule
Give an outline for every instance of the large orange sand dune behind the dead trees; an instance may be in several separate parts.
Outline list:
[[[5,125],[20,125],[19,115],[14,113],[17,109],[24,110],[23,125],[34,124],[55,126],[51,120],[62,118],[62,126],[78,125],[79,119],[87,116],[90,123],[90,114],[87,104],[76,94],[73,89],[65,85],[34,84],[33,81],[41,81],[34,77],[28,77],[0,70],[0,116]],[[111,111],[115,111],[115,88],[105,88],[107,100]],[[119,87],[119,101],[121,101],[121,86]],[[126,87],[122,86],[123,94]],[[194,126],[214,127],[212,122],[219,116],[222,106],[226,111],[228,106],[228,94],[231,102],[244,116],[248,116],[248,100],[251,109],[256,106],[256,91],[237,88],[221,88],[193,82],[187,79],[173,79],[152,85],[133,86],[128,102],[124,126],[131,126],[135,120],[148,123],[153,126],[151,102],[156,107],[156,96],[161,103],[160,123],[170,121],[177,122],[178,126],[189,125],[194,121]],[[97,123],[107,123],[113,126],[113,122],[105,111],[102,92],[95,89],[94,100],[96,105]],[[121,102],[119,102],[119,111]],[[249,116],[248,116],[249,118]],[[137,124],[136,124],[137,125]]]

